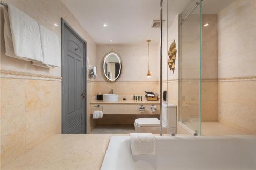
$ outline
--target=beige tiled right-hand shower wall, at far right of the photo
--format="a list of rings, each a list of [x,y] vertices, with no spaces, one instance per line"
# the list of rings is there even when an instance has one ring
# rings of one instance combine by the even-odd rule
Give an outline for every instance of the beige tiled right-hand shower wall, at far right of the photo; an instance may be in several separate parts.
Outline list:
[[[256,134],[256,2],[218,13],[218,120]]]

